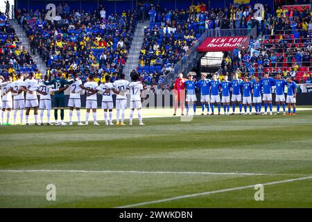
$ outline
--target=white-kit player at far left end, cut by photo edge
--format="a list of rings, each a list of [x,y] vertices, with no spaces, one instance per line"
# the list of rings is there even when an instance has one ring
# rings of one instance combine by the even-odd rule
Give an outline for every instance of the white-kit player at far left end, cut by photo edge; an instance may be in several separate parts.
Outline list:
[[[5,83],[1,83],[1,96],[2,96],[2,112],[1,120],[2,125],[10,125],[10,112],[12,109],[12,77],[8,76]],[[4,112],[6,111],[6,123],[4,123]]]

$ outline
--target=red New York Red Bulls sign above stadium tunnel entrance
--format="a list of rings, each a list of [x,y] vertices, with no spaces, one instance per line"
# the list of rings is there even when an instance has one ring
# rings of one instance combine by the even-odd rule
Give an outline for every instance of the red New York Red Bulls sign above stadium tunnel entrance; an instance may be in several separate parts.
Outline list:
[[[207,39],[198,46],[198,51],[233,51],[233,49],[247,47],[249,37],[207,37]]]

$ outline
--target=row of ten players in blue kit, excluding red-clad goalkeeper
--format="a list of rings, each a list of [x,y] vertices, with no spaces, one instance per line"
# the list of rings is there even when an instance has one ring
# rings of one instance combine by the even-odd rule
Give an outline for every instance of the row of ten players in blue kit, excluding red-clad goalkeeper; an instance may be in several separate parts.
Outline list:
[[[233,80],[229,81],[228,77],[225,76],[224,80],[220,82],[217,76],[212,76],[209,80],[206,78],[206,74],[202,74],[202,79],[196,82],[193,80],[193,76],[189,74],[189,80],[185,81],[185,89],[187,90],[187,114],[189,108],[193,104],[194,113],[196,113],[196,94],[195,89],[200,89],[200,102],[202,103],[202,115],[205,112],[205,106],[207,108],[207,114],[209,114],[209,108],[211,108],[211,115],[214,115],[215,105],[218,108],[218,114],[220,115],[221,103],[223,104],[224,113],[229,114],[229,104],[232,101],[232,115],[235,114],[236,103],[239,104],[239,114],[242,114],[244,108],[244,115],[252,114],[252,103],[254,104],[254,110],[256,114],[261,114],[262,101],[264,104],[263,115],[268,114],[268,108],[270,115],[272,115],[272,86],[275,86],[277,103],[277,112],[283,108],[283,114],[286,114],[286,105],[288,103],[287,115],[295,115],[296,112],[296,92],[297,85],[291,80],[291,78],[281,78],[280,74],[277,74],[277,78],[269,77],[268,73],[264,74],[264,77],[260,80],[255,77],[254,80],[249,80],[248,77],[241,80],[238,74],[234,74]],[[287,87],[287,96],[285,99],[284,89]],[[232,99],[230,99],[230,92],[232,92]],[[241,94],[243,92],[243,95]],[[220,99],[221,95],[221,99]],[[291,106],[293,106],[293,113],[291,113]]]

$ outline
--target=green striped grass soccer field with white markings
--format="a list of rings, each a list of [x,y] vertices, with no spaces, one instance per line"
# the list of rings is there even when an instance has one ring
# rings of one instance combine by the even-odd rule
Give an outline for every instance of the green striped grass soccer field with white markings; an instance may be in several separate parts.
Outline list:
[[[144,110],[146,126],[0,126],[0,207],[312,207],[311,107],[172,113]]]

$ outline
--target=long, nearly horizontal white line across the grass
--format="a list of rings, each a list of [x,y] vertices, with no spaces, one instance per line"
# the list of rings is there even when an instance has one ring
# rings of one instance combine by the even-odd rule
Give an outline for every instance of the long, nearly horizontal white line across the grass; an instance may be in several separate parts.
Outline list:
[[[112,170],[76,170],[76,169],[0,169],[0,173],[144,173],[144,174],[186,174],[186,175],[237,175],[237,176],[299,176],[283,173],[238,173],[238,172],[195,172],[195,171],[112,171]],[[304,175],[304,174],[301,174]]]

